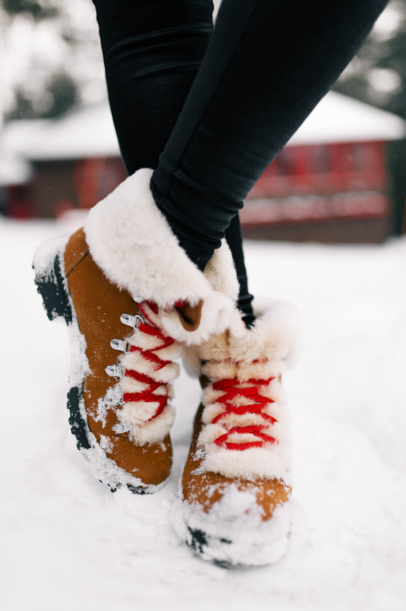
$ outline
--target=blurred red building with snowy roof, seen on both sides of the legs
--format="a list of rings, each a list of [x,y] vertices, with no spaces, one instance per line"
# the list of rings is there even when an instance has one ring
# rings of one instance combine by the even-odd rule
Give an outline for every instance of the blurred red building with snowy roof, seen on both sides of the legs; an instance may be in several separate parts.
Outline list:
[[[381,242],[390,233],[387,142],[397,115],[330,92],[266,169],[240,211],[247,238]],[[57,217],[88,209],[126,177],[107,103],[0,134],[3,211]]]

